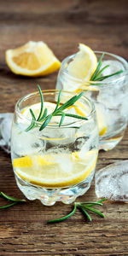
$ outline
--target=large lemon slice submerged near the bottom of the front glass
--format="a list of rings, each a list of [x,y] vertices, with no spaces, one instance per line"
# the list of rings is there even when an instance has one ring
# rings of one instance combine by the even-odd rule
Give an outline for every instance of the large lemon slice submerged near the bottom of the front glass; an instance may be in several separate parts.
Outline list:
[[[30,183],[49,187],[67,187],[82,182],[96,167],[97,151],[91,150],[84,159],[78,153],[26,156],[13,160],[16,174]],[[63,166],[66,165],[67,168]],[[70,172],[69,172],[69,166]]]

